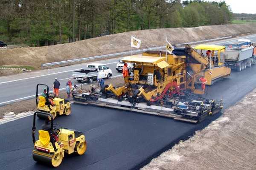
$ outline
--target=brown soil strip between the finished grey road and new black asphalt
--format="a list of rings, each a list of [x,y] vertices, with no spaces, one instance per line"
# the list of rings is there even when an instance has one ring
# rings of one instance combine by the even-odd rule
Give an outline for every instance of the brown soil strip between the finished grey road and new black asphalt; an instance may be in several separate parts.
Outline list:
[[[120,86],[123,84],[123,78],[122,77],[116,77],[113,79],[106,79],[105,84],[110,84],[112,83],[114,86]],[[82,89],[90,89],[91,84],[87,85],[82,85]],[[93,85],[96,85],[96,83],[93,83]],[[78,86],[78,90],[81,89],[81,86]],[[39,92],[41,93],[41,92]],[[61,98],[66,99],[66,91],[60,91]],[[70,97],[70,99],[72,99]],[[35,99],[29,99],[29,100],[24,100],[21,102],[15,102],[9,105],[5,105],[0,107],[0,119],[3,118],[4,113],[9,113],[9,112],[14,112],[15,114],[21,113],[21,112],[27,112],[27,111],[35,111],[36,110],[36,104],[35,104]]]

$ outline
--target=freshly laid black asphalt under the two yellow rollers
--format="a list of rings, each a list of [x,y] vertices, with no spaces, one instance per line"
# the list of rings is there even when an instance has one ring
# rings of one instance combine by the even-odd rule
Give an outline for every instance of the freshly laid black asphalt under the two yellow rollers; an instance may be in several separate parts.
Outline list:
[[[82,131],[88,150],[83,156],[65,155],[57,169],[126,170],[140,167],[216,118],[190,124],[141,113],[72,105],[72,114],[58,117],[55,123]],[[43,122],[37,119],[37,127],[40,128]],[[3,132],[0,140],[2,170],[49,169],[32,159],[31,129],[32,116],[0,126]]]

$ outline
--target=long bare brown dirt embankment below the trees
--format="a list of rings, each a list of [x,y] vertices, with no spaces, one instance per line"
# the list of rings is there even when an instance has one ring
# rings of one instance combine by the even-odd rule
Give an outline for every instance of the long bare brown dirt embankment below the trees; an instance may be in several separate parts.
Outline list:
[[[0,65],[30,65],[39,68],[41,63],[112,54],[130,50],[131,35],[142,40],[142,47],[166,44],[166,37],[174,44],[207,40],[218,37],[255,34],[256,24],[201,26],[195,28],[162,28],[131,31],[46,47],[0,50]]]

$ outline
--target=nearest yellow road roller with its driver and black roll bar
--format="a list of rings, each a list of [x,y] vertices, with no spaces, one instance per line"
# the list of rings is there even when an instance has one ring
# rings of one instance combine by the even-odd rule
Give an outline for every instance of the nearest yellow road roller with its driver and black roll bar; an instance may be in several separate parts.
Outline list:
[[[38,130],[39,139],[35,139],[35,117],[41,114],[45,120],[42,129]],[[36,111],[33,117],[32,139],[34,143],[33,159],[52,167],[58,167],[64,153],[71,154],[76,152],[83,155],[87,149],[85,136],[82,132],[66,128],[58,128],[53,124],[53,116],[50,113]]]

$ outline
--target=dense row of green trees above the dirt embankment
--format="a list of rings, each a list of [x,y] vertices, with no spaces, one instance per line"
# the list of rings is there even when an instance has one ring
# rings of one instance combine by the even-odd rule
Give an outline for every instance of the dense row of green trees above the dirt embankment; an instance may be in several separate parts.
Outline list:
[[[1,0],[0,40],[44,46],[152,28],[230,23],[225,2]]]

